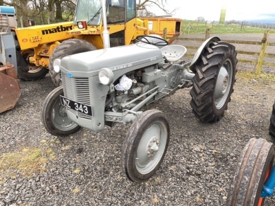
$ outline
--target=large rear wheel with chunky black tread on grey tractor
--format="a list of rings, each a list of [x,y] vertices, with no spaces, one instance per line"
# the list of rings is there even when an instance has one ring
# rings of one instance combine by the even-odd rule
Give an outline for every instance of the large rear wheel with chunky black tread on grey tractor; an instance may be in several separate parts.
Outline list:
[[[223,117],[233,92],[237,62],[234,45],[219,41],[204,48],[192,65],[195,76],[190,104],[201,122],[217,122]]]

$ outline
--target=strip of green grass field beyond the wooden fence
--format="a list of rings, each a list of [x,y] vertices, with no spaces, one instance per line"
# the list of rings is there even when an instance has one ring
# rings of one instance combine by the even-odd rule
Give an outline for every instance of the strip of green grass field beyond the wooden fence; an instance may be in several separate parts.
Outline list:
[[[245,25],[241,25],[241,22],[220,24],[190,20],[184,20],[181,23],[182,34],[205,34],[207,29],[214,34],[263,33],[268,28],[270,28],[270,33],[275,33],[274,27],[269,24],[245,23]]]

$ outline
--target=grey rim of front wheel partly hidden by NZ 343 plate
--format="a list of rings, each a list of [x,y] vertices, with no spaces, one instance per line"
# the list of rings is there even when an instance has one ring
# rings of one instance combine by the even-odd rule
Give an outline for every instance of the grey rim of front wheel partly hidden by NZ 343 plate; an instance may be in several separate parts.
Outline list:
[[[78,126],[78,124],[69,119],[66,108],[60,103],[59,99],[54,104],[52,110],[52,122],[58,130],[63,131],[72,130]]]

